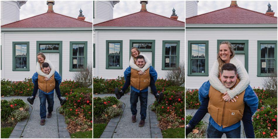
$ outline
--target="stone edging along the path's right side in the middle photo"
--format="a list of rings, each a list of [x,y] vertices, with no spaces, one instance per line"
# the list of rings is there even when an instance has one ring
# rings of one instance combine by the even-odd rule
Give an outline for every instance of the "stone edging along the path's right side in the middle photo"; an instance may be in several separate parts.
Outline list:
[[[161,129],[157,126],[159,122],[157,121],[156,113],[150,107],[152,107],[152,104],[149,105],[151,138],[163,138]]]

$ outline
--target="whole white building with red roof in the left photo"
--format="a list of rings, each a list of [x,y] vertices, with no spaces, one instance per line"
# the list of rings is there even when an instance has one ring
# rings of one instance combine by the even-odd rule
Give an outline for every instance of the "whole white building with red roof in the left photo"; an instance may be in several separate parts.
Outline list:
[[[23,20],[16,13],[18,21],[1,25],[1,79],[31,78],[39,52],[52,61],[62,80],[72,80],[75,71],[92,63],[92,23],[78,11],[78,18],[55,13],[54,4],[49,1],[46,13]]]

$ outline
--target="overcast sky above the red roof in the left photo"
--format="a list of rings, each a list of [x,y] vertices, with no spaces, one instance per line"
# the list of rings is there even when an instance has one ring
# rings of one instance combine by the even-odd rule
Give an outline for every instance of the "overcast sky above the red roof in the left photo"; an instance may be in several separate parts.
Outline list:
[[[85,21],[93,22],[92,7],[92,1],[55,1],[53,10],[55,13],[77,18],[81,8],[83,15],[86,17]],[[46,13],[47,9],[46,1],[27,1],[20,7],[20,20]]]

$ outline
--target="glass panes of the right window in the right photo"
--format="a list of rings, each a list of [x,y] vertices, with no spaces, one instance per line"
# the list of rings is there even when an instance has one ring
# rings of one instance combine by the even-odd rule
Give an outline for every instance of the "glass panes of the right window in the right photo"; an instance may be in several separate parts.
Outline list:
[[[261,60],[260,60],[261,73],[274,73],[275,44],[260,44],[260,47],[261,47]]]

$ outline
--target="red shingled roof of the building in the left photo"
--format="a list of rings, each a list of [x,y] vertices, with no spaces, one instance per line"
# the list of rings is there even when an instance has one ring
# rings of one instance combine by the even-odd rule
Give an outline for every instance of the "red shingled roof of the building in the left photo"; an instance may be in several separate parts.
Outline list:
[[[79,20],[59,13],[49,12],[2,25],[1,28],[68,28],[92,27],[91,22]]]

